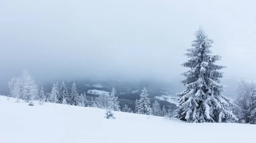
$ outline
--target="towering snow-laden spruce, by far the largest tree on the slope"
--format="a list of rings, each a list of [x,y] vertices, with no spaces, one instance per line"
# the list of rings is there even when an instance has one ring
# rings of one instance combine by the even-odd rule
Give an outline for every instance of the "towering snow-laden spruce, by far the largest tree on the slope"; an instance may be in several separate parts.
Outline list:
[[[182,65],[190,70],[182,73],[186,77],[181,83],[186,87],[179,97],[179,109],[177,118],[189,123],[202,122],[234,122],[228,98],[221,95],[222,85],[219,78],[223,73],[218,71],[224,68],[214,64],[221,60],[221,56],[210,55],[212,39],[204,33],[202,28],[195,33],[196,39],[192,42],[192,48],[187,49],[185,55],[189,60]]]

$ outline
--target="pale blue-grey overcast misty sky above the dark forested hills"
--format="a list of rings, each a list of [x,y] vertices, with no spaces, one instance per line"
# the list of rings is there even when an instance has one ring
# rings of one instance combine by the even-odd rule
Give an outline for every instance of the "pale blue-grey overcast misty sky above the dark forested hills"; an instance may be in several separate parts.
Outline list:
[[[0,82],[26,68],[37,80],[172,78],[188,70],[203,26],[226,77],[256,77],[253,0],[0,0]],[[256,79],[256,78],[255,78]]]

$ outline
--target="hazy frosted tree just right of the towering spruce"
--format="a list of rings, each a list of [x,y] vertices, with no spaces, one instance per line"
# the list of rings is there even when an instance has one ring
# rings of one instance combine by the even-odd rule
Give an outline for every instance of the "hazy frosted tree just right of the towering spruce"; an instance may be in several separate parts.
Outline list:
[[[244,80],[241,80],[239,84],[238,95],[236,96],[234,103],[236,106],[233,108],[233,112],[239,119],[239,123],[249,123],[253,100],[250,86]]]

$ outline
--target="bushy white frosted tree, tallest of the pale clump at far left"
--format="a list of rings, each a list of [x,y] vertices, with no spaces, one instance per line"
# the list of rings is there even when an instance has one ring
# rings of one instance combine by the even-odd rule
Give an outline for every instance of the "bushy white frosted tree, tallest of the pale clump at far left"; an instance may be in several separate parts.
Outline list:
[[[35,97],[38,97],[38,86],[35,84],[35,80],[27,70],[22,71],[22,76],[20,79],[22,99],[29,102]]]

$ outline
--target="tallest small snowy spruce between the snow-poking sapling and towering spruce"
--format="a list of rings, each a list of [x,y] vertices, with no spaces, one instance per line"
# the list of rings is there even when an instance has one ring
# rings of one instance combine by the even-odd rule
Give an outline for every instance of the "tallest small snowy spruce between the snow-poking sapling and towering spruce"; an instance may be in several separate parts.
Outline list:
[[[151,115],[152,109],[150,107],[150,99],[148,98],[148,93],[145,87],[142,90],[142,93],[140,94],[140,100],[138,102],[139,102],[138,113]]]

